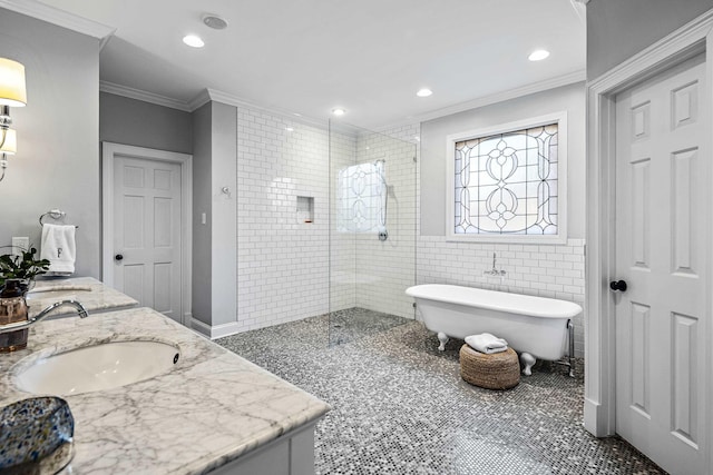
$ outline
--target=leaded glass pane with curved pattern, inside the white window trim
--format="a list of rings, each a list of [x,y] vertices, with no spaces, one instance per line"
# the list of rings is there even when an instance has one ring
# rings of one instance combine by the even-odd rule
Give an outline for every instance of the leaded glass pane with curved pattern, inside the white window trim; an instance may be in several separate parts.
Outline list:
[[[558,123],[455,142],[456,235],[558,234]]]

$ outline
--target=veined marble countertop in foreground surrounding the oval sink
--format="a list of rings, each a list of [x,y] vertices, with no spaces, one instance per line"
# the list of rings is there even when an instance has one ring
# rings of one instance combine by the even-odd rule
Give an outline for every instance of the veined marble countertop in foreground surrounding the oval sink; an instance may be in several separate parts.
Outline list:
[[[149,308],[35,325],[27,349],[0,355],[0,405],[32,396],[13,384],[18,362],[127,339],[174,343],[180,359],[145,382],[62,396],[76,420],[75,457],[62,473],[204,474],[330,409]]]

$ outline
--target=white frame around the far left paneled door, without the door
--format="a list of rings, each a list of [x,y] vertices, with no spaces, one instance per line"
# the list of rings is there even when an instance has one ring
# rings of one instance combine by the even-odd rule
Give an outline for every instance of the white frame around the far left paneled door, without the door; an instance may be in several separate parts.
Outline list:
[[[192,249],[193,249],[193,156],[175,151],[101,142],[101,280],[114,286],[114,159],[124,156],[136,159],[169,161],[180,165],[180,319],[191,328]]]

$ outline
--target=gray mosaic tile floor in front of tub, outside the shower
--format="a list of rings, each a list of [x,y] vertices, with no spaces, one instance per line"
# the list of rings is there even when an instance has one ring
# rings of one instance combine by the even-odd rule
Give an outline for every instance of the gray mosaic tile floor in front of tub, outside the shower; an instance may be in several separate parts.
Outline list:
[[[584,429],[583,380],[566,368],[538,363],[511,390],[480,389],[460,378],[462,342],[441,353],[420,323],[394,325],[331,346],[321,316],[217,343],[332,405],[316,428],[321,475],[665,473]]]

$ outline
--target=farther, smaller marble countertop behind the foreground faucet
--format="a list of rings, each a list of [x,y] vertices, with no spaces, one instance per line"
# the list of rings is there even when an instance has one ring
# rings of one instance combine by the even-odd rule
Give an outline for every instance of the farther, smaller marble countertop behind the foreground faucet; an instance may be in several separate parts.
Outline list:
[[[105,286],[92,277],[37,280],[35,288],[30,290],[27,297],[30,318],[39,314],[48,305],[68,298],[80,301],[89,311],[89,315],[92,311],[106,311],[138,305],[138,301],[134,298]],[[51,315],[67,315],[70,311],[74,313],[69,308],[58,308]]]

